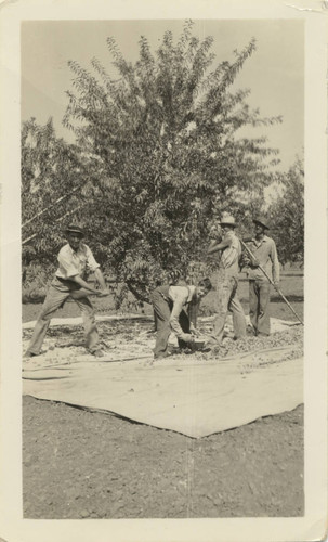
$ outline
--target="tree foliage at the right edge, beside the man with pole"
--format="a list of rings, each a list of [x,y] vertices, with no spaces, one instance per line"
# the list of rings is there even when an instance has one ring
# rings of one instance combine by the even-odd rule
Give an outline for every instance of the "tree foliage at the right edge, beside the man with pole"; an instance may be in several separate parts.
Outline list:
[[[273,224],[281,263],[304,262],[304,169],[298,159],[287,173],[280,176],[283,192],[271,205]]]

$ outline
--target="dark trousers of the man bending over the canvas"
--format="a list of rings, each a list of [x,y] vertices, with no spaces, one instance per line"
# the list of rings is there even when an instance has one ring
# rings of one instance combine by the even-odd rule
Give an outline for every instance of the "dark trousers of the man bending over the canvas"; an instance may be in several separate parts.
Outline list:
[[[163,297],[161,289],[165,289],[165,287],[160,286],[159,288],[156,288],[150,296],[157,322],[156,344],[154,349],[155,358],[160,358],[167,353],[169,337],[172,331],[170,326],[170,317],[173,308],[173,301]],[[179,323],[184,333],[189,333],[189,319],[184,310],[180,313]],[[185,348],[187,346],[187,344],[182,339],[178,339],[178,344],[180,348]]]

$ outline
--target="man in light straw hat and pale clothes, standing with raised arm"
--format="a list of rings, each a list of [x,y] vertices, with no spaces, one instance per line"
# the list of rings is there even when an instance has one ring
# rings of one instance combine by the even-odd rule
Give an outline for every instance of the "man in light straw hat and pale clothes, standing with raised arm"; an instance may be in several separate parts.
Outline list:
[[[220,222],[222,240],[213,235],[208,254],[220,254],[217,282],[217,307],[213,321],[213,333],[209,344],[222,344],[227,312],[233,313],[234,338],[246,336],[246,320],[238,298],[238,273],[241,245],[235,234],[235,218],[228,214]]]

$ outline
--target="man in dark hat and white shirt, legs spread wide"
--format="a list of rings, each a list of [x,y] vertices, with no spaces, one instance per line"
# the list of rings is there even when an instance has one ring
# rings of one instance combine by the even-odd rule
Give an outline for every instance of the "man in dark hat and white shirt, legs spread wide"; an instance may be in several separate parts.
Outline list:
[[[109,291],[92,251],[88,245],[82,243],[83,231],[81,228],[77,224],[70,224],[66,228],[65,233],[68,243],[58,253],[58,269],[44,299],[28,349],[24,356],[25,359],[38,356],[41,352],[53,313],[69,297],[77,302],[81,310],[87,349],[94,356],[102,356],[103,353],[99,348],[99,333],[95,325],[94,310],[88,295],[95,294],[103,297],[107,296]],[[89,272],[94,273],[101,289],[95,289],[86,281]]]

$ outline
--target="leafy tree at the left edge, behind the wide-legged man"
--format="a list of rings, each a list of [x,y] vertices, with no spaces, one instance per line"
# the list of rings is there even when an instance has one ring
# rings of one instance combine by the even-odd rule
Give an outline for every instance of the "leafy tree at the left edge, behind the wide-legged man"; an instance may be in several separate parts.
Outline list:
[[[92,160],[55,134],[52,119],[22,127],[23,264],[55,264],[67,221],[86,210],[93,183]],[[66,219],[66,220],[65,220]]]

